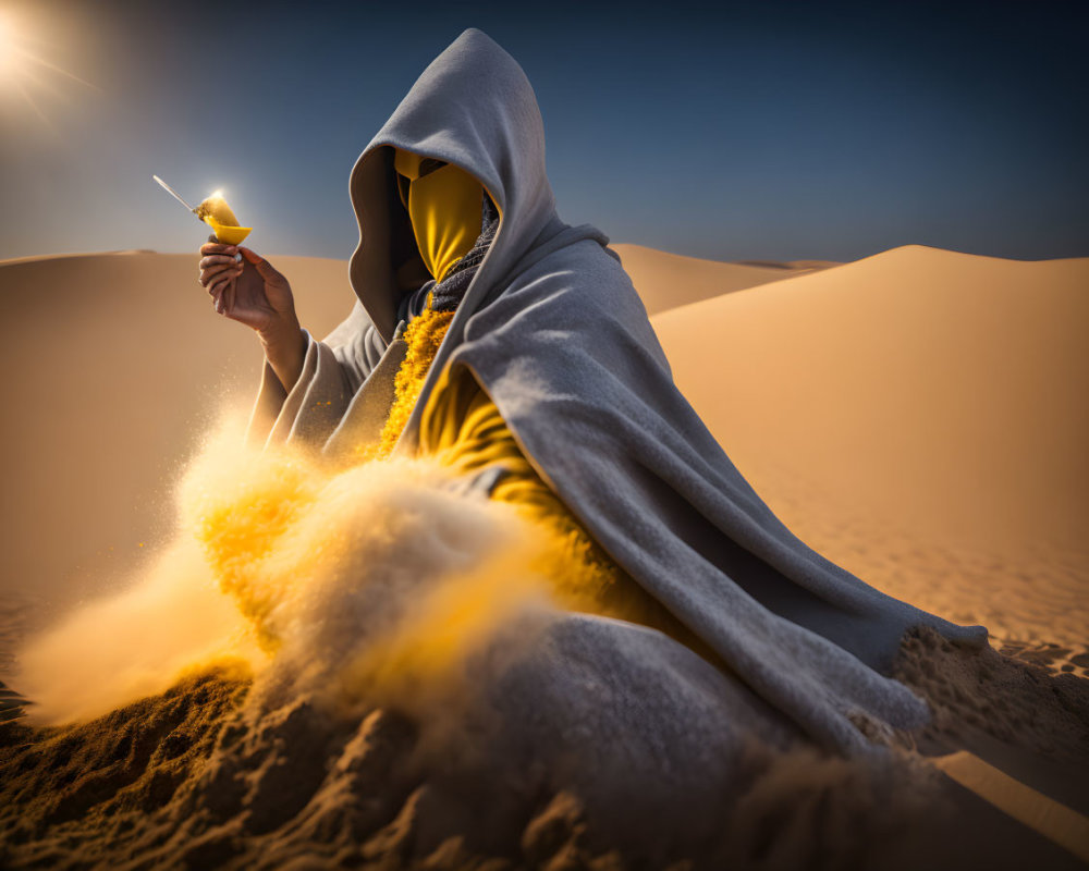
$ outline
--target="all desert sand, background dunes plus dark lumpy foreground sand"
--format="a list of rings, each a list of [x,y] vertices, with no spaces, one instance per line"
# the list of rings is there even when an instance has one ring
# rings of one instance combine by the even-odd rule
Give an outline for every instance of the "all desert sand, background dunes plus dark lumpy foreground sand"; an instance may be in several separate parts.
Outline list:
[[[711,263],[616,249],[678,387],[776,514],[880,589],[990,627],[993,649],[972,657],[907,639],[901,678],[935,712],[911,740],[967,748],[1089,813],[1089,260],[910,246],[847,265]],[[254,392],[256,344],[211,311],[195,259],[0,263],[13,373],[0,678],[20,637],[147,563],[220,397]],[[315,334],[351,307],[344,262],[273,262]],[[1080,867],[910,755],[881,768],[761,750],[713,842],[656,864],[602,837],[574,796],[507,802],[456,769],[436,774],[389,712],[345,724],[305,697],[259,704],[230,672],[75,727],[9,723],[0,738],[5,866]],[[1075,819],[1060,843],[1080,831]]]

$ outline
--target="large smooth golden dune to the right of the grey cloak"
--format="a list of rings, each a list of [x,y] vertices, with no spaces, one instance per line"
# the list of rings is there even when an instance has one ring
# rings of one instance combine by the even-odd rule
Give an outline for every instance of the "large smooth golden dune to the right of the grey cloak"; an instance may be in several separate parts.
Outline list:
[[[1085,664],[1089,259],[908,246],[653,323],[681,390],[803,540]]]

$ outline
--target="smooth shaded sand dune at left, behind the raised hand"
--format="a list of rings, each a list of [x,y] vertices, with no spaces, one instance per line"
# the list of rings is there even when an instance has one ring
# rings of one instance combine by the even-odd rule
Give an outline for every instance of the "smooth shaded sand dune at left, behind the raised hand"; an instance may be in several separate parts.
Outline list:
[[[197,256],[0,263],[0,591],[95,589],[161,535],[180,461],[221,400],[248,403],[260,351],[217,316]],[[323,334],[352,306],[346,263],[282,257]],[[142,547],[142,542],[144,547]]]

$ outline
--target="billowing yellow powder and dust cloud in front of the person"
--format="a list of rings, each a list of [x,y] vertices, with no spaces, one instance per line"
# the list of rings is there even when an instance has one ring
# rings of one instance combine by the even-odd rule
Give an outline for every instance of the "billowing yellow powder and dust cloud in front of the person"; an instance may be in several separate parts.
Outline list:
[[[256,451],[231,420],[178,488],[158,562],[32,639],[17,685],[50,722],[224,660],[350,701],[449,691],[466,657],[519,613],[570,604],[587,571],[559,532],[454,482],[429,459]]]

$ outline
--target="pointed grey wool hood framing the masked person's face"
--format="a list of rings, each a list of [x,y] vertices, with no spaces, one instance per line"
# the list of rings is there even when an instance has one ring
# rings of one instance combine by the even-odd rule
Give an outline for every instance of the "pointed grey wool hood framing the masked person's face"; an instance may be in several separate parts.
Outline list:
[[[466,308],[479,304],[488,286],[542,236],[565,226],[544,172],[544,124],[529,79],[490,37],[469,28],[428,65],[352,170],[359,245],[350,275],[386,341],[396,328],[404,275],[419,277],[412,269],[419,255],[396,188],[397,148],[465,170],[499,209],[499,230],[466,293]]]

